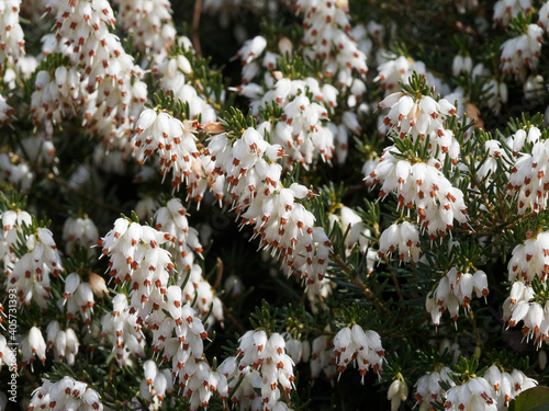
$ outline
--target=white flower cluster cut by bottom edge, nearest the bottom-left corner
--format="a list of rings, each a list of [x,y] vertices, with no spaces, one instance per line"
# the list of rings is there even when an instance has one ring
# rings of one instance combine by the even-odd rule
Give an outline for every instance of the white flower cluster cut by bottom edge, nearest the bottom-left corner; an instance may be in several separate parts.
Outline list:
[[[68,376],[52,383],[48,379],[34,390],[29,411],[43,410],[102,411],[98,391]]]

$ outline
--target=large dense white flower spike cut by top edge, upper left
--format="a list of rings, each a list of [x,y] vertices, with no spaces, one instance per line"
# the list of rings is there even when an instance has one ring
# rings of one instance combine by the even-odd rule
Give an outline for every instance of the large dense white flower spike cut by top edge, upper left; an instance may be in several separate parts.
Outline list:
[[[72,107],[82,115],[89,132],[128,151],[127,133],[146,101],[147,87],[139,80],[143,70],[134,65],[119,37],[110,31],[115,24],[111,5],[102,0],[49,1],[46,13],[55,13],[55,33],[44,36],[43,53],[61,53],[68,57],[70,67],[78,68],[65,70],[65,76],[59,73],[55,82],[60,81],[61,89],[67,82],[68,90],[72,89],[75,94],[69,94]],[[76,95],[79,82],[82,89]],[[47,95],[41,100],[55,99]],[[35,113],[35,122],[53,112]]]

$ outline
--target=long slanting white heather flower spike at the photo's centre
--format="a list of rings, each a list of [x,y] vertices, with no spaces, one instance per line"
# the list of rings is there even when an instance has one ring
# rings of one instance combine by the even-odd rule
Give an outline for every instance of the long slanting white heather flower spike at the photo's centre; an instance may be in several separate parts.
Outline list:
[[[261,247],[280,253],[289,273],[300,272],[307,285],[318,286],[332,243],[321,227],[314,227],[314,216],[295,201],[311,195],[310,190],[298,183],[282,187],[282,167],[272,162],[283,156],[281,147],[248,128],[233,141],[226,134],[213,137],[204,155],[215,161],[216,174],[226,175],[242,224],[254,226]]]

